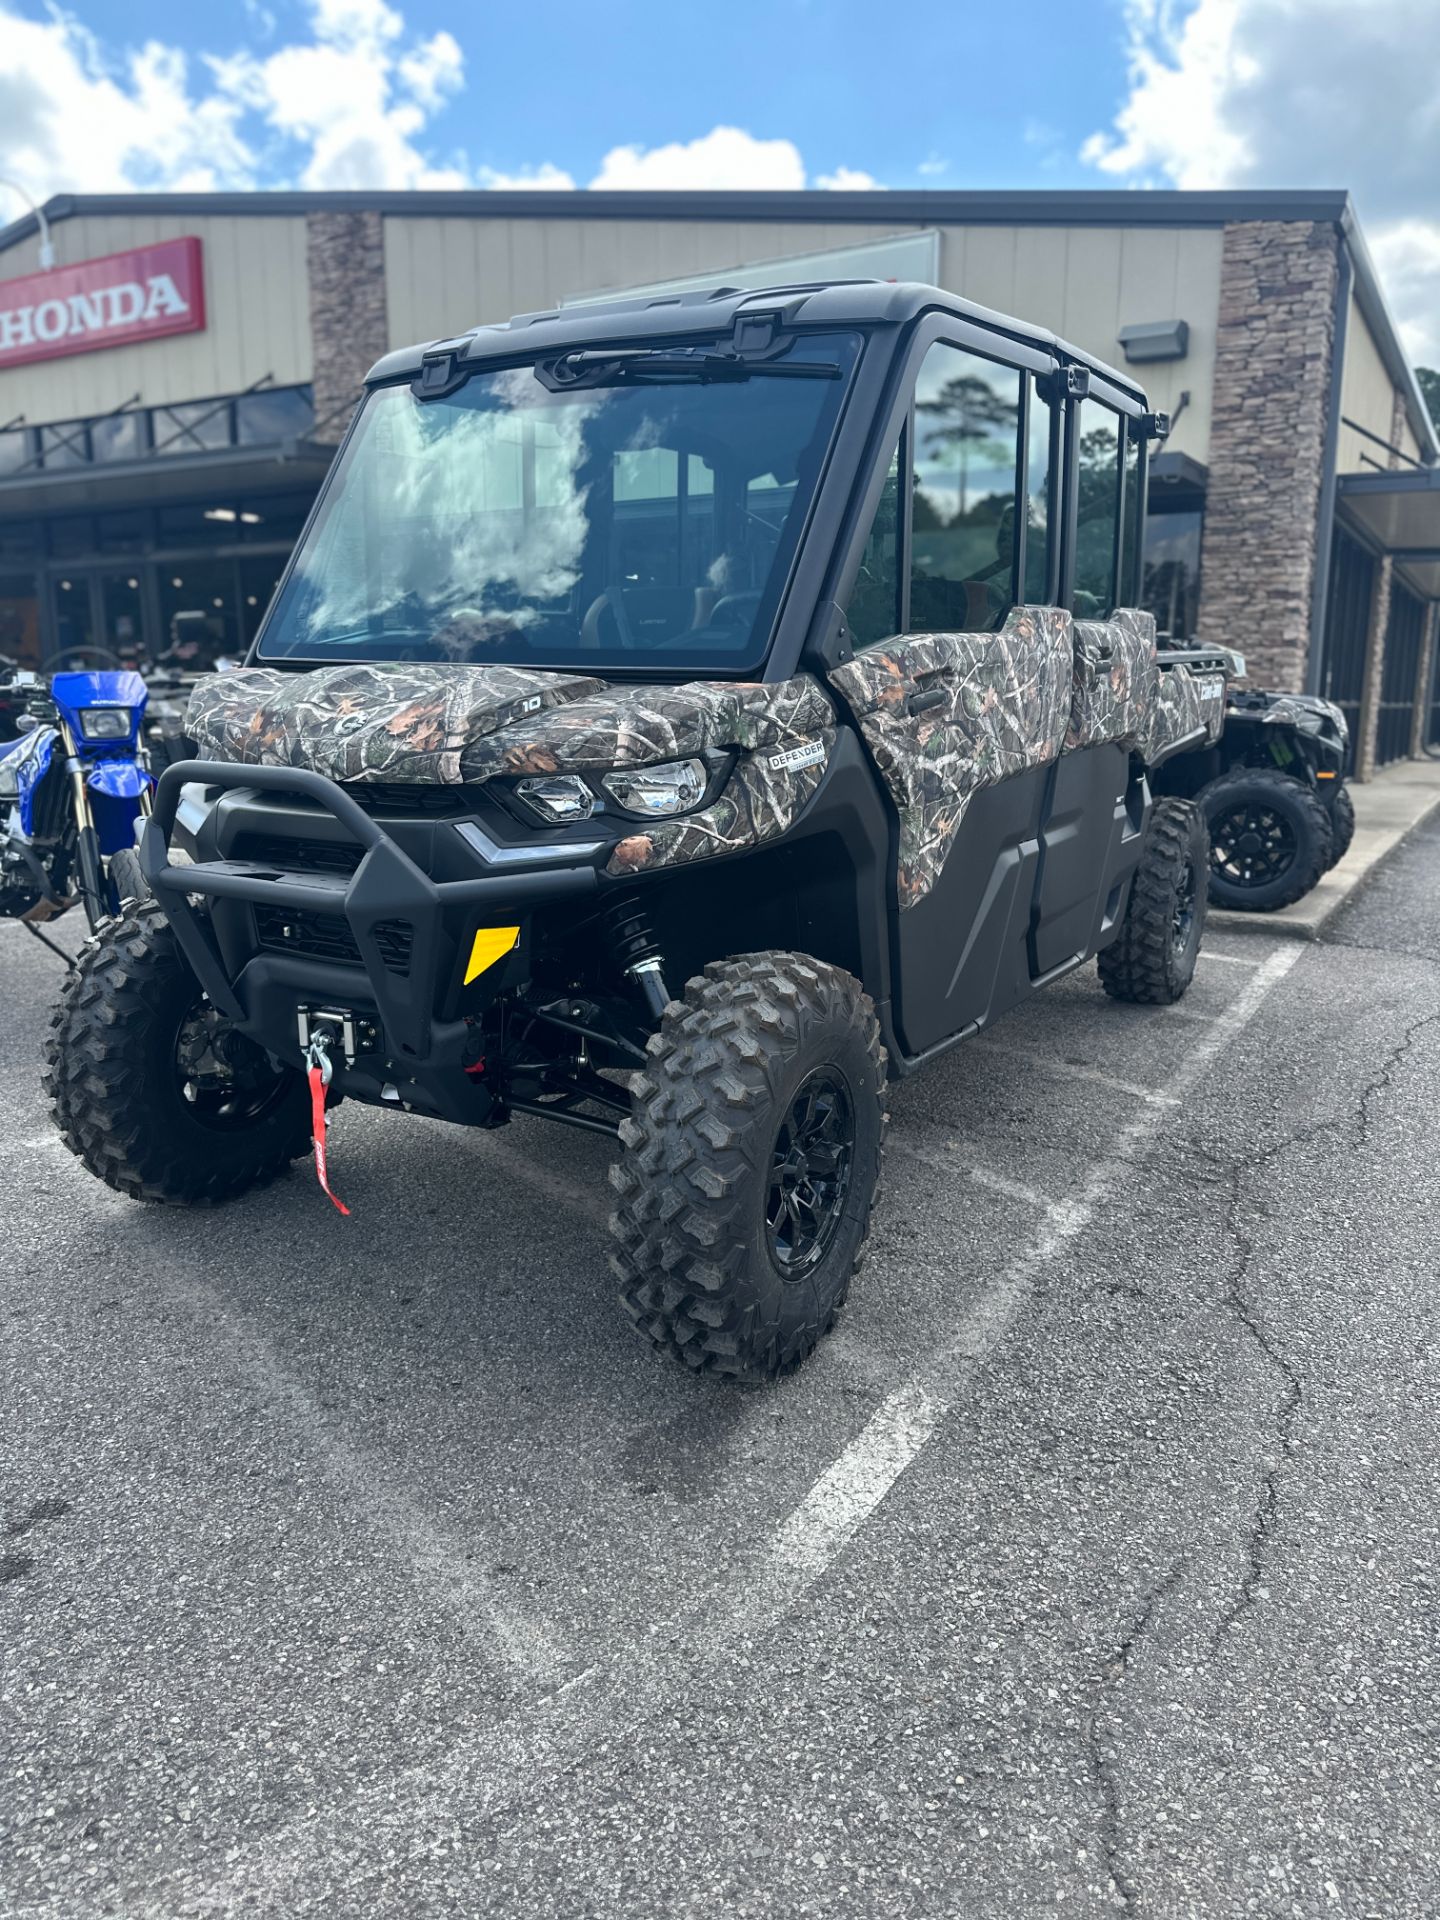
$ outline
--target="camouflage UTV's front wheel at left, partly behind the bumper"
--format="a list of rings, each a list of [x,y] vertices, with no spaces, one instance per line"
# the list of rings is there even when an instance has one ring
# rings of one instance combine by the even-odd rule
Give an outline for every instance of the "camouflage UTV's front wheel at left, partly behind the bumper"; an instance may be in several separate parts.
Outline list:
[[[300,1071],[215,1012],[154,900],[81,948],[50,1016],[44,1089],[65,1146],[132,1200],[230,1200],[309,1152]]]

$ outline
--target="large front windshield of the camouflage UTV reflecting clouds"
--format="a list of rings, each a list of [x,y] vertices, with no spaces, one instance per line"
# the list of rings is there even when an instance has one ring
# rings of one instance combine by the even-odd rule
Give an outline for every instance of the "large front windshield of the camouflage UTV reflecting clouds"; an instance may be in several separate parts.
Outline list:
[[[259,657],[756,668],[858,346],[578,349],[372,392]]]

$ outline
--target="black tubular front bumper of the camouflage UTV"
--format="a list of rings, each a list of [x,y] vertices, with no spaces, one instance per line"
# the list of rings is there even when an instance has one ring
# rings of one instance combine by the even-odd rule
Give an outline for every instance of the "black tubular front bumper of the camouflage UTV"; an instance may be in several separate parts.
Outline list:
[[[330,816],[338,845],[361,849],[353,870],[323,872],[284,864],[284,841],[257,858],[171,862],[180,795],[186,785],[234,793],[282,793],[309,803],[309,818]],[[315,814],[315,808],[321,814]],[[298,1062],[300,1008],[346,1008],[372,1014],[374,1060],[349,1062],[342,1085],[380,1098],[397,1089],[407,1106],[451,1119],[478,1119],[476,1085],[459,1071],[476,1010],[515,977],[524,943],[486,975],[465,981],[465,958],[486,927],[524,924],[538,910],[593,899],[599,874],[584,849],[536,854],[497,847],[468,822],[444,824],[445,870],[438,879],[413,860],[392,833],[323,774],[288,766],[234,766],[180,760],[169,766],[140,837],[140,866],[175,937],[209,1000],[242,1033],[276,1058]],[[468,828],[468,831],[467,831]],[[547,856],[545,856],[547,852]],[[566,864],[555,864],[555,854]],[[202,912],[194,897],[209,902]],[[307,952],[275,950],[267,927],[294,922],[328,927],[332,939],[307,941]],[[319,950],[317,950],[319,948]]]

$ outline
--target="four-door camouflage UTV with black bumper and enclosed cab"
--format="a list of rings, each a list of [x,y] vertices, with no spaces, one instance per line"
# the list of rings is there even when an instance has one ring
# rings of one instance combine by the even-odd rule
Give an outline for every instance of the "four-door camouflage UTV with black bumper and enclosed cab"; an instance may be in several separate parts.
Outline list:
[[[924,286],[526,315],[369,376],[244,670],[65,989],[65,1142],[140,1200],[342,1096],[612,1135],[624,1311],[770,1377],[833,1323],[887,1077],[1098,956],[1190,983],[1152,772],[1225,659],[1133,611],[1144,396]],[[1077,612],[1083,614],[1077,618]]]

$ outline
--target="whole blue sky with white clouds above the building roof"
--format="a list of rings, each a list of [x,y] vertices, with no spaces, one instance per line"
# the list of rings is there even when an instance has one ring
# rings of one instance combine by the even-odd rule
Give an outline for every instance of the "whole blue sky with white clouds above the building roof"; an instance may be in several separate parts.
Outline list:
[[[1348,186],[1436,365],[1440,0],[0,0],[0,217],[513,184]]]

